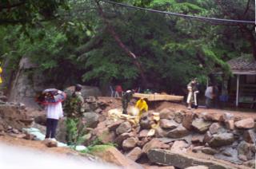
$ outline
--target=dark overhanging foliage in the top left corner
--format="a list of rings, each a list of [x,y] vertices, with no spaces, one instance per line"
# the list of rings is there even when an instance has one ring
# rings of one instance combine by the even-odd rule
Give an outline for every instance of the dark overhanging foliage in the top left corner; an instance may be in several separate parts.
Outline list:
[[[0,25],[38,24],[56,18],[59,8],[68,9],[66,0],[3,0],[0,4]]]

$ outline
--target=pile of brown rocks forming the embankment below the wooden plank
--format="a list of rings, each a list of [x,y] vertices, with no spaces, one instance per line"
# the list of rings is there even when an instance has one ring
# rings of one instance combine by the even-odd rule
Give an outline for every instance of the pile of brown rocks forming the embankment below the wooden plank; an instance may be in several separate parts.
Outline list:
[[[230,113],[198,114],[171,108],[159,113],[160,126],[155,129],[154,136],[148,136],[150,119],[144,116],[138,126],[132,126],[125,120],[106,119],[94,128],[90,138],[94,140],[98,137],[103,143],[116,143],[119,150],[134,161],[147,155],[152,163],[184,168],[193,166],[193,163],[178,165],[170,163],[174,160],[163,162],[161,155],[193,151],[235,164],[254,165],[254,119],[239,119]],[[170,159],[174,159],[174,155],[170,156]],[[209,163],[208,167],[213,165],[217,164]]]

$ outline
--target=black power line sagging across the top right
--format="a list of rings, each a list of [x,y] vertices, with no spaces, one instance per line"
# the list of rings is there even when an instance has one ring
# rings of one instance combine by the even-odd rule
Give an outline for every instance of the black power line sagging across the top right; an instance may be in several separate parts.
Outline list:
[[[188,14],[178,14],[178,13],[173,13],[173,12],[166,12],[166,11],[162,11],[162,10],[151,10],[151,9],[148,9],[148,8],[142,8],[142,7],[138,7],[138,6],[130,6],[130,5],[127,5],[127,4],[124,4],[124,3],[111,2],[111,1],[108,1],[108,0],[99,0],[99,1],[114,4],[114,5],[117,5],[117,6],[124,6],[124,7],[131,8],[131,9],[147,10],[147,11],[154,12],[154,13],[174,15],[174,16],[182,17],[182,18],[194,18],[194,19],[198,19],[198,20],[207,20],[207,21],[214,21],[214,22],[232,22],[232,23],[239,23],[239,24],[256,24],[256,21],[243,21],[243,20],[221,19],[221,18],[207,18],[207,17],[193,16],[193,15],[188,15]]]

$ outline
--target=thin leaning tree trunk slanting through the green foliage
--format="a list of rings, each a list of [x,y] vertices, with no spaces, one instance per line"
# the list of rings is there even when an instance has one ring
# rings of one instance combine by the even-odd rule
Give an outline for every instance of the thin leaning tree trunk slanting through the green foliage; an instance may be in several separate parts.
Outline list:
[[[128,56],[132,57],[132,59],[134,60],[134,65],[138,68],[140,76],[142,77],[142,86],[146,87],[147,86],[147,80],[146,80],[145,73],[144,73],[144,71],[142,69],[142,65],[137,60],[136,55],[133,52],[131,52],[130,49],[128,49],[126,47],[126,45],[124,45],[122,43],[122,41],[121,41],[120,37],[118,36],[118,34],[115,33],[114,28],[106,20],[105,14],[103,13],[102,7],[100,6],[99,2],[97,0],[95,2],[97,4],[97,6],[98,6],[98,13],[101,15],[101,17],[103,19],[103,22],[105,22],[108,31],[114,37],[114,40],[118,43],[118,45],[128,54]]]

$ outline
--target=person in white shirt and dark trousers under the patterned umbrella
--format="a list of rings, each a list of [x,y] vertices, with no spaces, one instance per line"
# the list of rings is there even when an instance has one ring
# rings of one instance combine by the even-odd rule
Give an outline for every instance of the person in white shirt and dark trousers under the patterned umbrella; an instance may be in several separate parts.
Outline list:
[[[46,140],[55,140],[58,120],[62,118],[62,102],[46,105]]]

